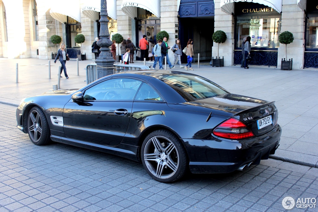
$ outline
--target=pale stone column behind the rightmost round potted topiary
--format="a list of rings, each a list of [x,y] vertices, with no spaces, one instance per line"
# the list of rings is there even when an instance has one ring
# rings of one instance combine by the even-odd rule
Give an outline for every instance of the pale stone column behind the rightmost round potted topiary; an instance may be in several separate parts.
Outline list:
[[[287,60],[293,58],[293,69],[303,69],[305,51],[305,12],[297,5],[297,0],[283,0],[281,15],[281,31],[289,31],[294,35],[293,43],[287,44]],[[278,48],[277,67],[285,58],[285,44]]]

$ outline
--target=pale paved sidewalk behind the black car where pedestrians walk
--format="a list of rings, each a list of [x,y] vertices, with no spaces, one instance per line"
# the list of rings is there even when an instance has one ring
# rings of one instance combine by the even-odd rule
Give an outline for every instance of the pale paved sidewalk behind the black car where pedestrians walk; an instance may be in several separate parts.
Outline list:
[[[85,67],[93,60],[76,60],[66,63],[66,79],[62,73],[60,88],[81,88],[86,85]],[[16,83],[18,63],[18,83]],[[152,65],[152,62],[146,62]],[[143,64],[136,62],[135,64]],[[0,103],[17,106],[26,96],[38,95],[57,84],[59,62],[51,60],[51,79],[48,76],[48,60],[0,58]],[[273,67],[239,66],[211,67],[193,64],[192,72],[221,85],[231,93],[276,101],[279,110],[278,123],[282,127],[280,147],[275,159],[318,167],[318,71],[317,69],[280,70]],[[173,68],[185,71],[185,69]]]

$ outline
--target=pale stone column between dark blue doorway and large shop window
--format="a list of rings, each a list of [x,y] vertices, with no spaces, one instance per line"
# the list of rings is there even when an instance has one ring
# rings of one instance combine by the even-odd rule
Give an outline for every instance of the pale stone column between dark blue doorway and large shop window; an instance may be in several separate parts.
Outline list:
[[[214,0],[214,32],[222,30],[226,33],[225,43],[221,43],[219,47],[219,57],[224,57],[224,66],[232,66],[234,64],[234,18],[220,8],[220,0]],[[211,35],[212,39],[212,35]],[[212,56],[218,55],[218,44],[213,42]]]

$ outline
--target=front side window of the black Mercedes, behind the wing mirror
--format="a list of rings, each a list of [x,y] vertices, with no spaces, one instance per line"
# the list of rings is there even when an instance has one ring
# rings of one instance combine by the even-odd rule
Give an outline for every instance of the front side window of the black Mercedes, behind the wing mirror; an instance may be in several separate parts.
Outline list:
[[[84,100],[133,100],[141,84],[131,78],[102,81],[84,92]]]

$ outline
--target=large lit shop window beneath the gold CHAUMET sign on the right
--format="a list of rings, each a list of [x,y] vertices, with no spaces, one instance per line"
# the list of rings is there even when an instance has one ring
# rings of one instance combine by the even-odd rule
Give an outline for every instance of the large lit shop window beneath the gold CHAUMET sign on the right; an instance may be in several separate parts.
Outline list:
[[[251,47],[279,47],[280,22],[280,18],[238,18],[236,47],[241,47],[243,38],[247,36],[251,36]]]

